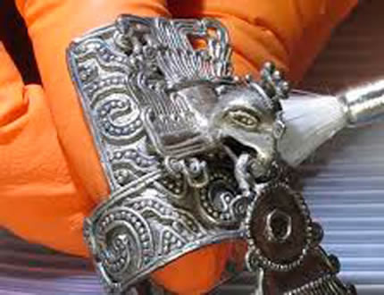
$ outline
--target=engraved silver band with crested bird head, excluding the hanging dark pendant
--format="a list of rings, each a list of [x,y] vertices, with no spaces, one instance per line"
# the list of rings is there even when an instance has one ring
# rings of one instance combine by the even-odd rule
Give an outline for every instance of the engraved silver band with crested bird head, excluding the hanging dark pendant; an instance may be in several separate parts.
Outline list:
[[[276,166],[280,73],[232,76],[227,32],[212,20],[123,16],[73,42],[68,61],[112,191],[84,229],[106,290],[240,238],[250,179]]]

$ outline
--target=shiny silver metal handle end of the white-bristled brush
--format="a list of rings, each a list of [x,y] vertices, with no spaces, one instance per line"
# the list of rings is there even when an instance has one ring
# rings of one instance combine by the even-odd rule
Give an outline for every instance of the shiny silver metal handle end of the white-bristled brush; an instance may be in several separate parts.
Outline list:
[[[347,90],[338,98],[350,125],[374,122],[384,115],[384,80]]]

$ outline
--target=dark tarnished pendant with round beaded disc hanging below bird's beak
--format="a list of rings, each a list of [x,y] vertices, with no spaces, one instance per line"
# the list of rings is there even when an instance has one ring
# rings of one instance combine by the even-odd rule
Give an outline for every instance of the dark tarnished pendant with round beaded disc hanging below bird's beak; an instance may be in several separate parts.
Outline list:
[[[254,295],[355,294],[338,279],[338,258],[321,248],[321,225],[288,181],[261,186],[245,223],[246,265],[257,275]]]

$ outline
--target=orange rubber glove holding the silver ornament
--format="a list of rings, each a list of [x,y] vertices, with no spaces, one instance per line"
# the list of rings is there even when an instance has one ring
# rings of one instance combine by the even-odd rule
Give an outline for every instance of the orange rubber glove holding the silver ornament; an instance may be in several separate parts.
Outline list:
[[[108,188],[67,70],[65,49],[73,38],[121,13],[214,17],[230,30],[238,73],[256,73],[272,60],[296,80],[356,2],[17,0],[44,89],[22,84],[0,44],[0,225],[29,241],[87,255],[83,218]],[[188,254],[154,278],[178,294],[200,294],[220,276],[229,249],[221,244]]]

